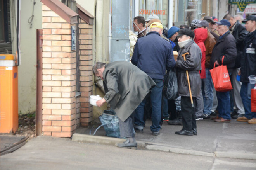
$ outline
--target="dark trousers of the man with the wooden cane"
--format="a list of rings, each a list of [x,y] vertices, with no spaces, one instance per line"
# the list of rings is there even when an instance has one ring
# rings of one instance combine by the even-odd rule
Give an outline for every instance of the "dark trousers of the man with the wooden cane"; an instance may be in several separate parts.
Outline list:
[[[196,107],[196,100],[193,97],[194,107]],[[190,97],[181,97],[180,101],[181,105],[181,112],[182,112],[182,123],[183,123],[183,130],[192,131],[192,128],[196,128],[196,121],[195,121],[195,108],[192,108]]]

